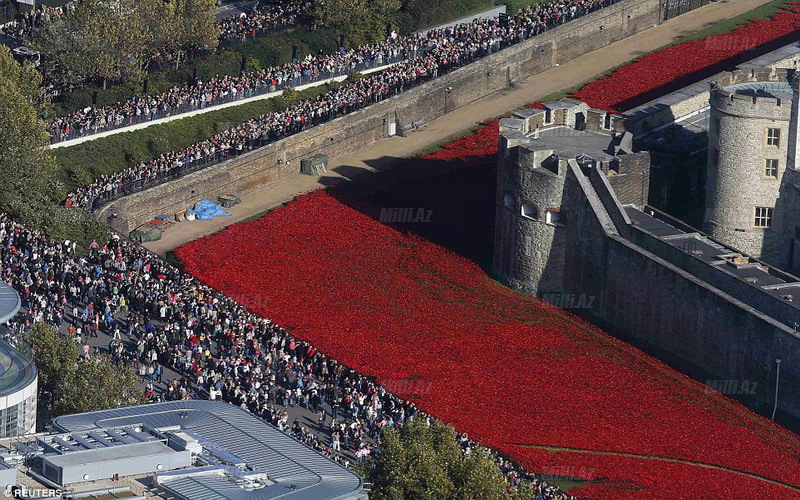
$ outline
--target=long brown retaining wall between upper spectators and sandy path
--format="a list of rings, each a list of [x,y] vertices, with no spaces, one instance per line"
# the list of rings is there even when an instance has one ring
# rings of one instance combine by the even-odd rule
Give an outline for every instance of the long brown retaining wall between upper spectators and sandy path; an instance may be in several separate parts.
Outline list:
[[[660,16],[659,0],[623,0],[369,108],[121,198],[104,207],[101,217],[116,213],[114,229],[127,233],[154,215],[175,213],[203,198],[241,194],[296,176],[300,161],[313,154],[337,157],[370,146],[386,137],[388,123],[433,120],[513,82],[646,30],[658,24]]]

